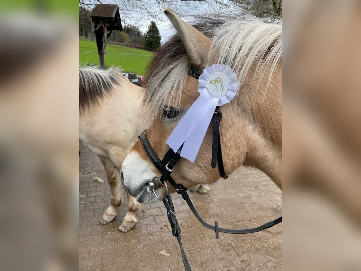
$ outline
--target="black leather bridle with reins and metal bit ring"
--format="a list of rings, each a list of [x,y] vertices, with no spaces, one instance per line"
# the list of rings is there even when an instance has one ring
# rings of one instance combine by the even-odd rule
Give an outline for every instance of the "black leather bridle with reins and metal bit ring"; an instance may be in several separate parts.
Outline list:
[[[202,72],[199,70],[196,70],[194,68],[191,68],[188,74],[195,77],[196,79],[198,79],[199,76],[202,74]],[[214,114],[213,114],[213,145],[212,145],[211,165],[212,165],[212,168],[215,168],[218,163],[218,169],[219,169],[219,173],[220,173],[221,177],[228,178],[228,176],[225,173],[225,169],[224,169],[224,165],[223,165],[221,140],[219,137],[219,122],[221,121],[221,119],[222,119],[222,113],[219,111],[219,108],[216,107],[216,110],[214,111]],[[214,223],[214,225],[210,225],[210,224],[206,223],[200,217],[200,215],[196,211],[195,207],[193,206],[193,203],[187,193],[187,188],[185,188],[182,184],[178,184],[177,182],[175,182],[173,180],[173,178],[170,176],[175,165],[177,164],[179,158],[181,157],[180,154],[181,154],[183,145],[176,152],[174,152],[172,149],[169,149],[166,152],[166,154],[164,155],[164,158],[162,160],[160,160],[160,158],[158,157],[156,152],[153,150],[151,144],[149,143],[149,140],[147,137],[147,130],[144,130],[142,132],[142,134],[139,136],[139,139],[140,139],[140,143],[142,144],[143,149],[144,149],[145,153],[147,154],[149,160],[151,160],[151,162],[155,166],[155,168],[161,173],[161,176],[156,176],[156,177],[159,177],[160,181],[165,186],[166,186],[166,182],[168,181],[174,187],[175,191],[178,194],[182,195],[183,199],[187,202],[191,211],[196,216],[196,218],[200,221],[200,223],[203,224],[205,227],[212,229],[213,231],[216,232],[217,239],[219,238],[219,232],[234,233],[234,234],[253,233],[253,232],[263,231],[264,229],[268,229],[268,228],[273,227],[274,225],[277,225],[278,223],[282,222],[282,216],[281,216],[281,217],[279,217],[273,221],[270,221],[268,223],[265,223],[259,227],[250,228],[250,229],[219,228],[218,221],[216,221]],[[153,181],[155,178],[153,178]],[[151,186],[151,182],[150,182],[149,186]],[[154,187],[154,184],[152,184],[152,187]],[[153,192],[155,193],[154,189],[153,189]],[[155,193],[155,195],[156,195],[156,193]],[[156,195],[156,197],[159,198],[157,195]],[[168,193],[168,188],[167,188],[167,193],[165,193],[163,195],[162,201],[164,203],[164,206],[167,209],[167,216],[168,216],[170,226],[172,228],[173,236],[177,237],[179,246],[181,248],[181,254],[182,254],[182,259],[183,259],[183,263],[184,263],[184,268],[186,271],[190,271],[191,267],[188,263],[186,254],[184,253],[183,246],[182,246],[181,228],[179,227],[178,220],[175,216],[174,206],[173,206],[173,202],[170,197],[170,194]]]

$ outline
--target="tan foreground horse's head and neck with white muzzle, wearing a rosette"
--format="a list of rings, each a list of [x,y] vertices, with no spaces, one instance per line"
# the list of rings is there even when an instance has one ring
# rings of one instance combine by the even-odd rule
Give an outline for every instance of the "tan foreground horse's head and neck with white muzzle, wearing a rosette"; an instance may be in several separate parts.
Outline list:
[[[227,174],[242,164],[252,165],[280,181],[282,152],[282,24],[247,15],[207,18],[196,28],[171,9],[165,14],[178,35],[158,49],[148,66],[143,105],[151,117],[149,142],[162,158],[165,143],[184,113],[199,96],[198,81],[188,76],[212,64],[230,66],[238,76],[238,95],[220,108],[222,154]],[[216,79],[216,85],[221,79]],[[266,92],[266,89],[268,91]],[[194,163],[180,159],[172,177],[189,188],[216,182],[219,171],[210,165],[212,131],[209,127]],[[148,182],[160,175],[138,141],[122,165],[128,192],[139,202],[154,198]],[[280,182],[278,184],[280,186]],[[173,188],[170,188],[172,190]],[[165,191],[156,190],[158,195]],[[172,192],[172,191],[170,191]]]

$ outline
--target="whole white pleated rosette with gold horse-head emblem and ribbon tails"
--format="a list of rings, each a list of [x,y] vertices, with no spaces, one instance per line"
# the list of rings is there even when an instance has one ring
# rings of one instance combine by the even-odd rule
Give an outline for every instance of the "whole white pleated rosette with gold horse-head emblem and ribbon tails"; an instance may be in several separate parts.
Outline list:
[[[203,70],[198,79],[200,96],[188,109],[166,143],[192,162],[196,159],[209,123],[217,106],[229,103],[238,91],[238,79],[226,65],[214,64]]]

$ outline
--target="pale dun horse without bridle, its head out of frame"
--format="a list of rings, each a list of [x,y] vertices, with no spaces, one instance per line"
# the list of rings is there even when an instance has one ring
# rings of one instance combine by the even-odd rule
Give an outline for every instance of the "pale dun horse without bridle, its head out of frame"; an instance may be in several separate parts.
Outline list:
[[[79,69],[79,138],[94,152],[104,165],[110,186],[110,206],[100,218],[108,224],[118,215],[123,202],[119,171],[125,156],[145,128],[140,103],[143,88],[129,82],[121,75],[121,69],[107,70],[97,66]],[[207,194],[210,188],[199,185],[193,192]],[[125,189],[127,192],[127,190]],[[138,222],[140,204],[127,193],[128,212],[119,231],[128,232]]]

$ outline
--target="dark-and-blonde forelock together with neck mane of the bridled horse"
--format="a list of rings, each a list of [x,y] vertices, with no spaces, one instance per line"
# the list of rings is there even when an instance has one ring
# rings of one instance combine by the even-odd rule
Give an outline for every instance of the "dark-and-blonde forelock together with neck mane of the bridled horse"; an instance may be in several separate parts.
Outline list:
[[[268,76],[282,60],[282,19],[258,18],[250,13],[198,16],[193,26],[212,39],[207,66],[225,64],[238,75],[239,86],[256,65],[255,80]],[[170,102],[180,102],[190,68],[189,58],[178,35],[162,45],[147,67],[143,104],[150,118]]]

